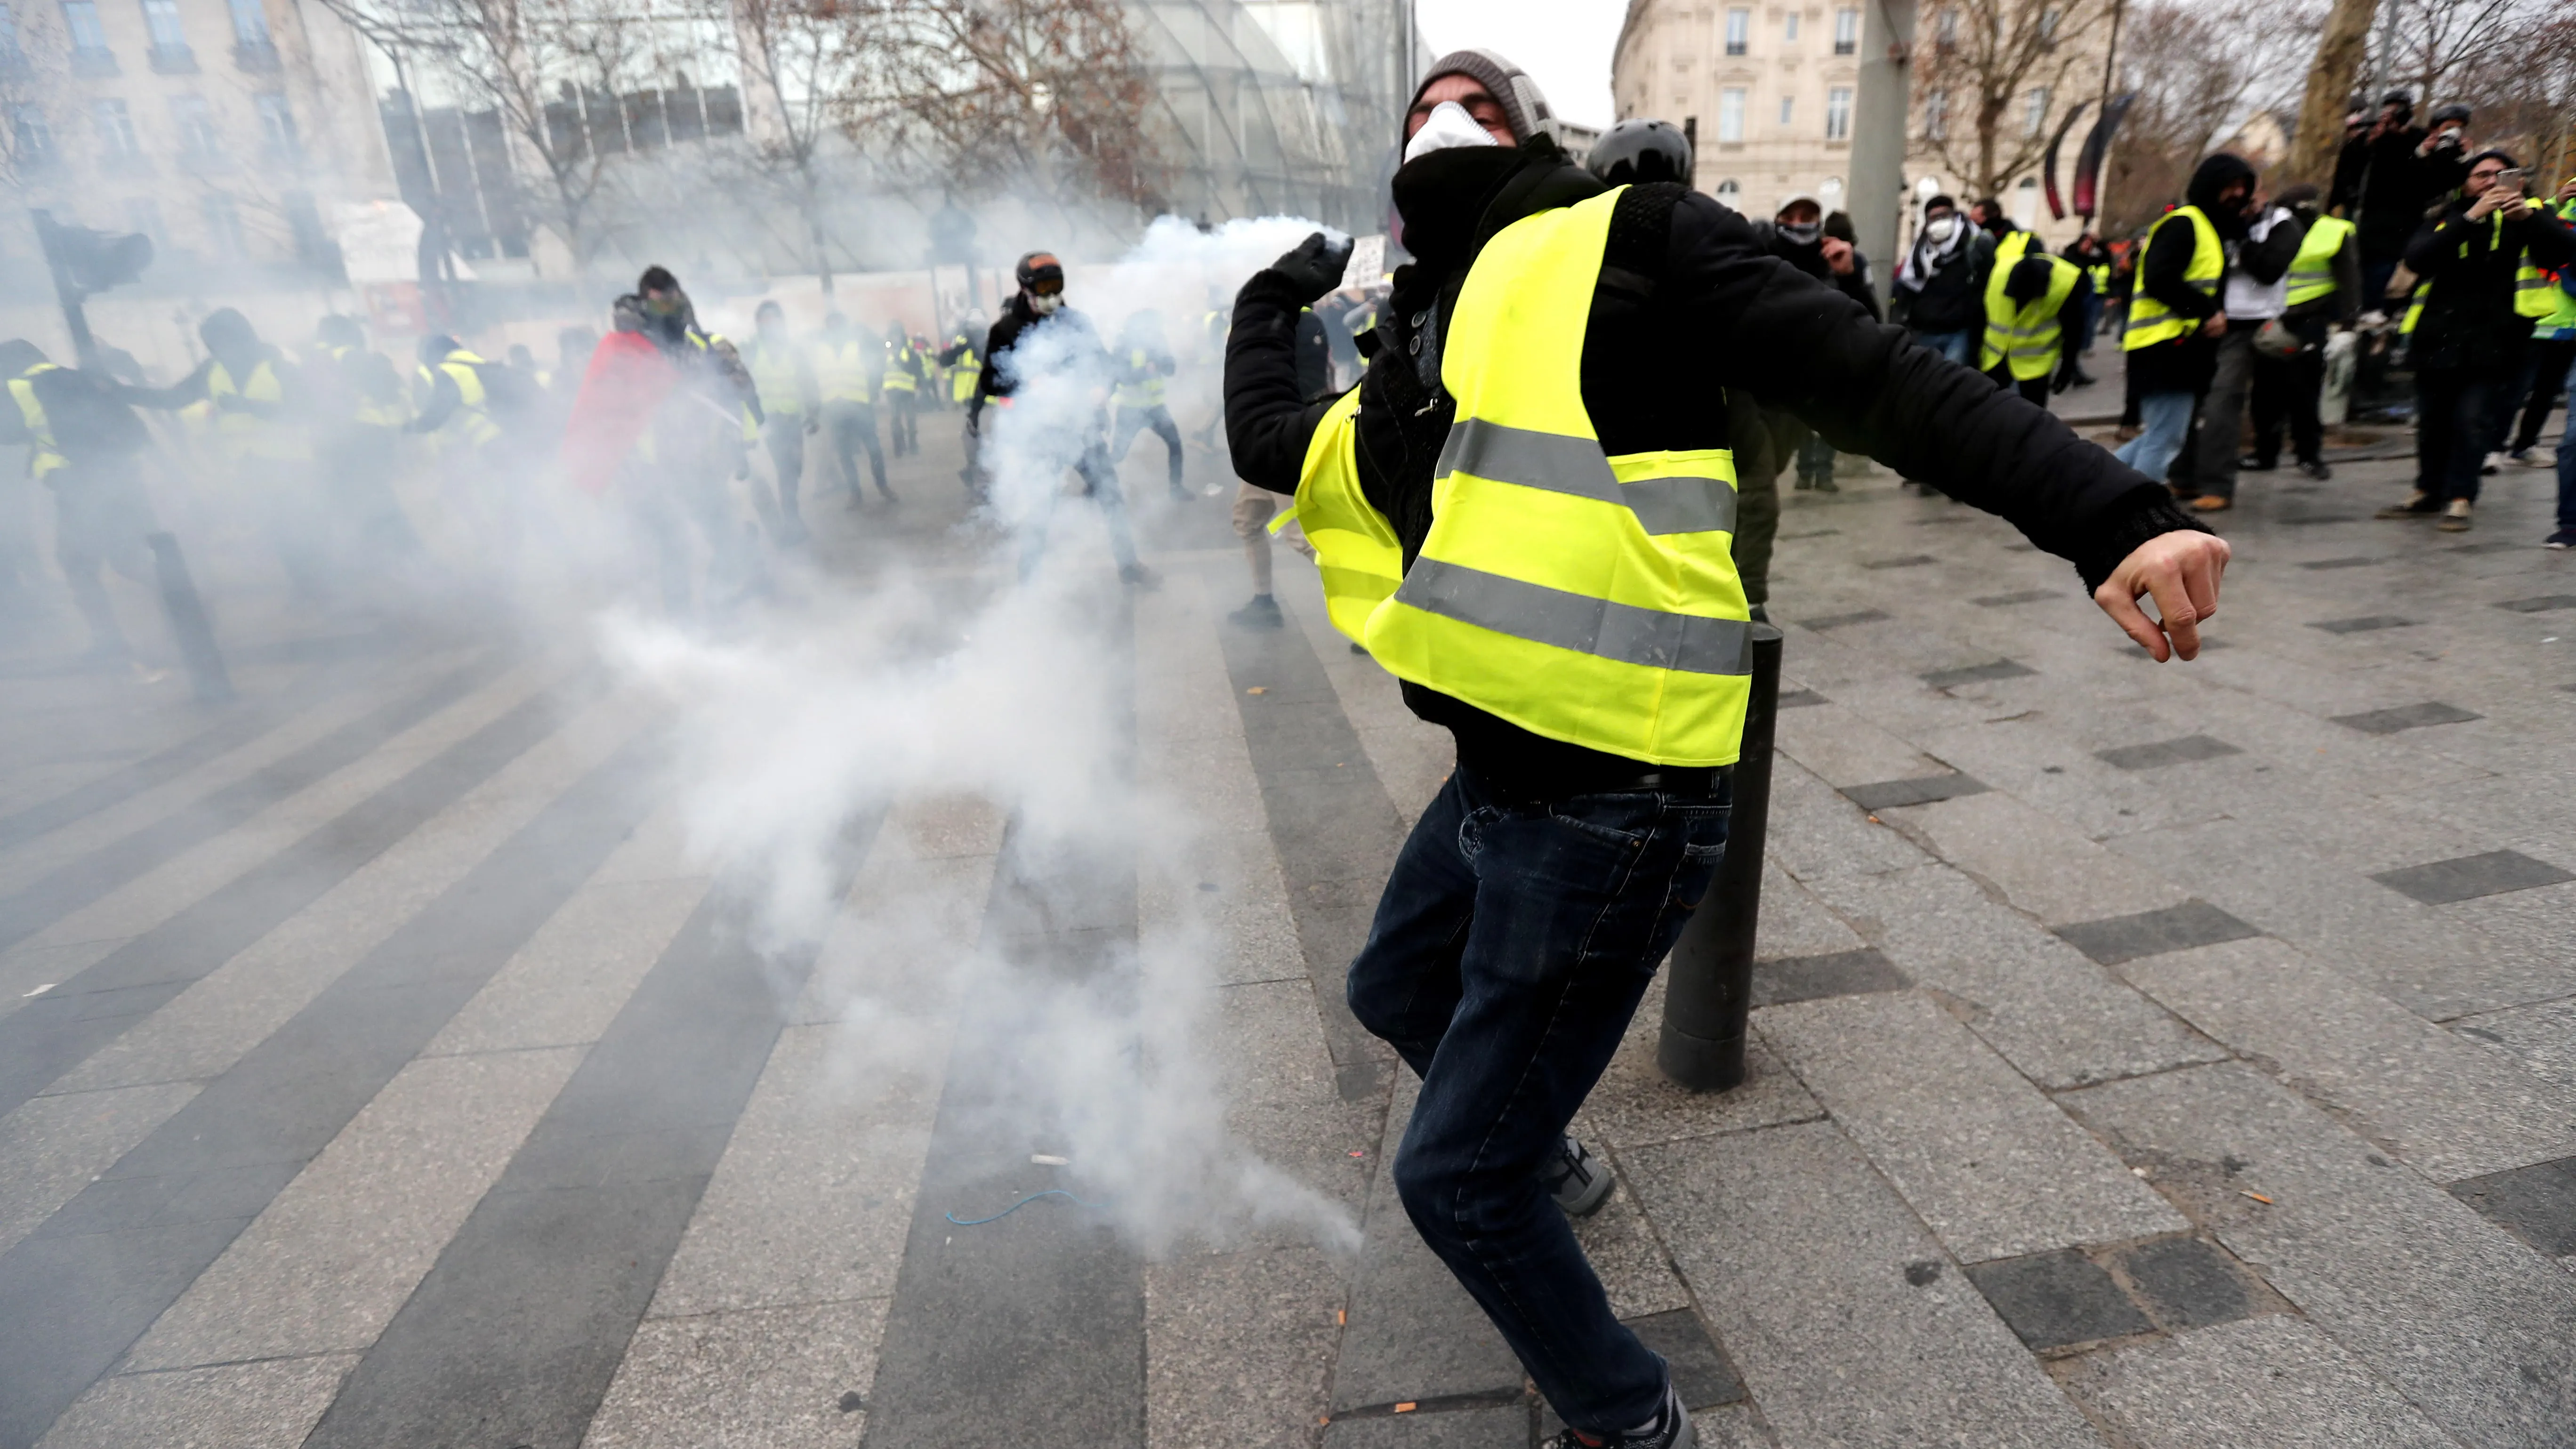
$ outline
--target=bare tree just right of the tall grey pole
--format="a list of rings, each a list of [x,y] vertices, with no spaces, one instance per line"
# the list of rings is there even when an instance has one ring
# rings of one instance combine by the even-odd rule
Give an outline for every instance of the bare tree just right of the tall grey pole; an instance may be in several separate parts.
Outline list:
[[[2050,121],[2099,77],[2110,0],[1950,0],[1914,36],[1922,150],[1978,196],[2048,152]]]

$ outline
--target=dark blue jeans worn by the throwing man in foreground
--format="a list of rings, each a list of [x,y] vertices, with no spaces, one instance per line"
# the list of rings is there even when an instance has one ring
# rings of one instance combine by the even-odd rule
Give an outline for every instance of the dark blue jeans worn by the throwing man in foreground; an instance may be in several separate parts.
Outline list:
[[[1422,1075],[1396,1150],[1406,1217],[1587,1434],[1654,1418],[1667,1372],[1538,1173],[1708,895],[1726,810],[1723,789],[1512,802],[1458,768],[1350,964],[1350,1011]]]

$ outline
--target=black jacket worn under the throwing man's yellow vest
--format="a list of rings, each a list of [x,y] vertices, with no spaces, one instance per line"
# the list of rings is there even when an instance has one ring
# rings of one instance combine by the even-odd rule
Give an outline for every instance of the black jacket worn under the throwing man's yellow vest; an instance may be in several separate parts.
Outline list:
[[[1419,260],[1396,273],[1370,335],[1358,472],[1409,567],[1430,534],[1432,462],[1455,415],[1435,387],[1437,338],[1468,263],[1510,222],[1602,188],[1553,144],[1530,142],[1432,152],[1406,162],[1394,191],[1404,242]],[[1324,402],[1309,402],[1296,384],[1303,302],[1288,273],[1260,271],[1236,294],[1226,340],[1234,472],[1273,492],[1296,492],[1324,415]],[[1610,219],[1582,353],[1584,410],[1602,449],[1723,449],[1728,387],[1795,413],[1842,451],[2002,513],[2038,547],[2074,559],[2087,585],[2146,539],[2197,526],[2161,485],[2040,407],[1765,255],[1754,229],[1718,201],[1682,186],[1628,188]],[[1404,701],[1458,737],[1463,766],[1538,794],[1638,771],[1636,761],[1543,740],[1422,686],[1404,686]]]

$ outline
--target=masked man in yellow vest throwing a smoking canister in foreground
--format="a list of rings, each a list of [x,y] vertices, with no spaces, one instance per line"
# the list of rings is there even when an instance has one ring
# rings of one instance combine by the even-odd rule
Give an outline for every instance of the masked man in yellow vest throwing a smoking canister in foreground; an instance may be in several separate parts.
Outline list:
[[[1718,201],[1584,173],[1492,52],[1432,62],[1401,139],[1394,348],[1340,397],[1296,392],[1296,315],[1350,253],[1316,232],[1236,297],[1226,438],[1239,477],[1296,492],[1332,624],[1458,743],[1347,980],[1422,1075],[1396,1194],[1566,1421],[1551,1446],[1677,1449],[1672,1377],[1566,1222],[1610,1194],[1566,1127],[1726,848],[1754,624],[1708,397],[1765,394],[2012,518],[2159,660],[2200,650],[2228,547],[1772,266]]]

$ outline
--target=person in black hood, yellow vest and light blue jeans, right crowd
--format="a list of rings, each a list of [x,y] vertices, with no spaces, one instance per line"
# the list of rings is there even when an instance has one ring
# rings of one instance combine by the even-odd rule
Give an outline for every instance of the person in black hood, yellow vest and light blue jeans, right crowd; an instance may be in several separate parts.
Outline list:
[[[2228,152],[2210,155],[2182,196],[2182,206],[2146,229],[2120,333],[2138,394],[2138,436],[2120,446],[2120,462],[2154,480],[2166,477],[2182,454],[2200,394],[2218,371],[2218,340],[2228,330],[2218,289],[2228,273],[2228,242],[2244,240],[2254,168]]]

